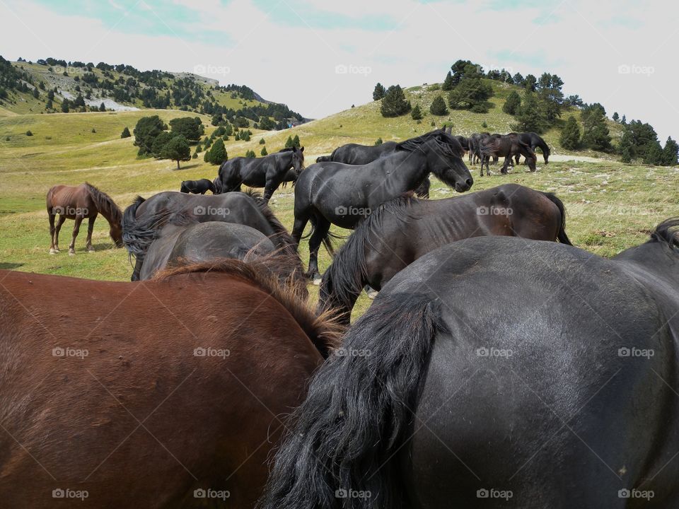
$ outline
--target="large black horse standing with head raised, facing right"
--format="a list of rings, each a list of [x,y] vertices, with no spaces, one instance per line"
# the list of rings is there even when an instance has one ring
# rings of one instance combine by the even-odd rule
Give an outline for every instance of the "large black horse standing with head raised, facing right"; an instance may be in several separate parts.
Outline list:
[[[443,183],[464,192],[474,180],[465,166],[460,142],[443,130],[402,141],[396,151],[366,165],[315,163],[304,170],[295,186],[292,237],[299,242],[308,221],[308,276],[320,282],[318,247],[330,247],[330,225],[356,228],[359,221],[384,201],[417,187],[434,173]]]

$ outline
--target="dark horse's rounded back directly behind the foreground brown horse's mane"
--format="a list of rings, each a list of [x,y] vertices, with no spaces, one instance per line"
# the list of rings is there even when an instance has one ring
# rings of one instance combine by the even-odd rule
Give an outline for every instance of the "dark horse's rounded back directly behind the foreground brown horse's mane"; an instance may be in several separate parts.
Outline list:
[[[139,279],[151,279],[166,267],[220,258],[248,262],[262,257],[268,259],[269,269],[282,284],[292,288],[300,298],[308,298],[306,278],[298,256],[277,254],[272,240],[250,226],[222,221],[199,223],[193,217],[163,226],[146,251]]]

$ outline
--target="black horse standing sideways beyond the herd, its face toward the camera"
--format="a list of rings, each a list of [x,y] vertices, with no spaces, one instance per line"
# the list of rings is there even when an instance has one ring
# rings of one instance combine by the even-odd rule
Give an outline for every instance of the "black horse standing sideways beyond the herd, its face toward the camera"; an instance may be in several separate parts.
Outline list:
[[[219,167],[219,189],[240,191],[243,184],[264,187],[264,200],[269,201],[291,168],[297,176],[304,169],[304,147],[284,148],[263,158],[229,159]]]

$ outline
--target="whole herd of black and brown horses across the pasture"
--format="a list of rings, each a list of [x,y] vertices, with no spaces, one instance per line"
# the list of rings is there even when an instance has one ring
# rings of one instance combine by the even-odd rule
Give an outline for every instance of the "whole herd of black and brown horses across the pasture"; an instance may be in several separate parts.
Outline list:
[[[124,212],[50,189],[50,252],[68,217],[91,250],[101,213],[137,282],[1,271],[4,503],[677,507],[679,219],[604,259],[554,194],[414,194],[430,173],[470,189],[466,151],[534,168],[525,136],[236,158]],[[291,233],[267,204],[284,182]],[[353,233],[321,277],[331,224]]]

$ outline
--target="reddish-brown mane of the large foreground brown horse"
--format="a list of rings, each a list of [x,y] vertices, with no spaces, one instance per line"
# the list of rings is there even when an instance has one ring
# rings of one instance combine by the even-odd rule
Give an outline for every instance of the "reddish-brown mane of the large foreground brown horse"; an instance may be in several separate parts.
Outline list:
[[[282,284],[274,276],[275,267],[286,263],[286,257],[274,254],[248,262],[233,258],[221,258],[165,269],[153,277],[156,281],[163,281],[180,274],[207,274],[217,272],[244,279],[253,286],[268,293],[277,300],[292,315],[301,329],[307,334],[323,358],[330,356],[330,352],[340,346],[344,327],[333,317],[332,312],[316,315],[308,303],[296,293],[294,283]]]

